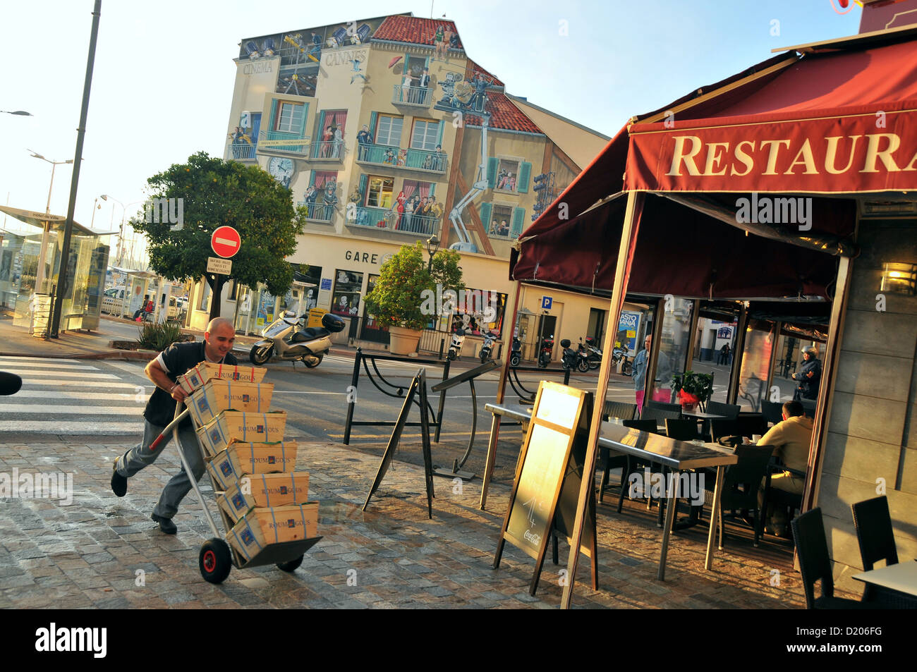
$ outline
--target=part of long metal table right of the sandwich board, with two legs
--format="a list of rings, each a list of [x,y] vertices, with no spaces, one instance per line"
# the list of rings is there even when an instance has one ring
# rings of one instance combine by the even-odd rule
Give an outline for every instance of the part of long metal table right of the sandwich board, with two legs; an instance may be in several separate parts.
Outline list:
[[[624,424],[602,423],[602,436],[599,445],[606,446],[625,455],[633,455],[644,461],[655,462],[663,467],[668,467],[676,474],[685,469],[715,467],[716,485],[713,488],[713,511],[710,512],[710,532],[707,534],[707,554],[703,567],[713,567],[713,539],[716,534],[716,524],[720,510],[720,495],[723,490],[725,468],[735,464],[738,457],[735,453],[724,449],[722,446],[698,445],[690,441],[675,441],[666,436],[638,432],[625,427]],[[673,479],[673,483],[677,482]],[[668,489],[668,508],[666,520],[662,525],[662,550],[659,554],[659,569],[657,578],[661,581],[666,576],[666,556],[668,555],[668,535],[671,533],[672,523],[675,520],[676,488]]]

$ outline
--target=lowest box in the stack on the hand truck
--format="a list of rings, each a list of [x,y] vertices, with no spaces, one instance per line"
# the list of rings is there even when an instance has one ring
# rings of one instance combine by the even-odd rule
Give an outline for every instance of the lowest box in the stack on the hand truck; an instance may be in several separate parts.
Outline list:
[[[317,535],[318,502],[310,501],[272,509],[252,509],[233,525],[226,541],[240,556],[250,560],[266,545],[302,541]]]

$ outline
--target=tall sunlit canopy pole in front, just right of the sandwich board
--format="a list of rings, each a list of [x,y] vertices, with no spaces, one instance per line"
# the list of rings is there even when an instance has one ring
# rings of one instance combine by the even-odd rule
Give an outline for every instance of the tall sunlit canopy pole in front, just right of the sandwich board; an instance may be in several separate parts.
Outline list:
[[[624,211],[624,226],[621,229],[621,243],[618,246],[618,263],[614,270],[614,287],[612,300],[608,307],[608,324],[605,327],[605,342],[602,352],[602,366],[599,368],[599,380],[595,388],[595,401],[592,404],[592,417],[589,427],[589,441],[586,444],[586,458],[582,468],[580,496],[577,501],[576,522],[573,524],[570,541],[569,559],[567,560],[567,584],[560,600],[561,609],[569,609],[573,597],[573,584],[576,580],[576,567],[580,560],[582,528],[587,507],[591,497],[595,497],[595,457],[599,445],[599,434],[602,430],[602,406],[608,391],[608,380],[612,373],[612,351],[614,339],[618,335],[618,323],[624,307],[624,295],[627,292],[627,281],[630,276],[631,263],[634,259],[637,231],[640,228],[640,215],[643,212],[644,194],[630,192],[627,194],[627,209]]]

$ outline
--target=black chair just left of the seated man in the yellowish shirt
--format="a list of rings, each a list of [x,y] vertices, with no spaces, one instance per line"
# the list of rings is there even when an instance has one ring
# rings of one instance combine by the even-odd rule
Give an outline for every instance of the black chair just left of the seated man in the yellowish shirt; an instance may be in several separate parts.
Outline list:
[[[754,544],[757,548],[758,539],[760,539],[764,529],[765,509],[757,508],[757,493],[761,489],[761,482],[768,473],[768,464],[770,456],[774,452],[774,446],[751,446],[740,444],[735,446],[735,456],[738,461],[734,465],[726,468],[723,479],[723,494],[720,496],[720,512],[718,520],[711,521],[710,524],[716,524],[719,527],[720,549],[723,549],[724,541],[724,511],[725,510],[755,510],[754,526]],[[704,479],[704,504],[713,506],[713,490],[716,487],[715,479]]]

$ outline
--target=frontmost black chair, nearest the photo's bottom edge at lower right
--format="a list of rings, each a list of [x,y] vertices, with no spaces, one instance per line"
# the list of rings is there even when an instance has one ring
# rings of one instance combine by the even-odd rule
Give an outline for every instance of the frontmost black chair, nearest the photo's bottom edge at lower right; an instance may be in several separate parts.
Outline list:
[[[802,588],[806,609],[872,609],[873,605],[856,600],[834,597],[834,576],[831,557],[824,537],[822,510],[815,508],[790,522],[796,554],[800,560]],[[815,597],[815,581],[822,579],[822,596]]]

